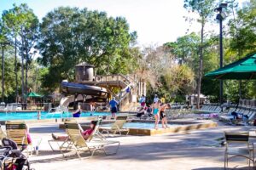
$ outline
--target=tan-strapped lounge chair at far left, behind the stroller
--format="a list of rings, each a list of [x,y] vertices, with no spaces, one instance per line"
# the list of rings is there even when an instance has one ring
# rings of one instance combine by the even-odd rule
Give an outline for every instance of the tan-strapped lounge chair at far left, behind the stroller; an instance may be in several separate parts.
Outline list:
[[[32,144],[28,144],[27,140],[26,123],[24,121],[7,121],[5,127],[7,138],[14,140],[18,146],[26,145],[27,154],[32,154]]]

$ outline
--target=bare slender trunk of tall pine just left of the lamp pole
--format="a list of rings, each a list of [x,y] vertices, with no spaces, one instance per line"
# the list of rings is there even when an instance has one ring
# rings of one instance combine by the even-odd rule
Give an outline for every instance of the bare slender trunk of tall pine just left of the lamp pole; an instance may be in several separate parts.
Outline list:
[[[197,109],[200,109],[201,77],[202,77],[202,67],[203,67],[203,42],[204,42],[204,23],[202,22],[199,72],[198,72],[198,82],[197,82],[197,100],[196,100]]]

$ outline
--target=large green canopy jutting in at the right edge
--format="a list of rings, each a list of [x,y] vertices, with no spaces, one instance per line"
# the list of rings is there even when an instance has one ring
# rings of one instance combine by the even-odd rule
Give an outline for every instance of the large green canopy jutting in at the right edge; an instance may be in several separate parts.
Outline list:
[[[216,79],[256,79],[256,53],[249,54],[243,59],[226,65],[216,71],[209,72],[206,77],[212,77]]]

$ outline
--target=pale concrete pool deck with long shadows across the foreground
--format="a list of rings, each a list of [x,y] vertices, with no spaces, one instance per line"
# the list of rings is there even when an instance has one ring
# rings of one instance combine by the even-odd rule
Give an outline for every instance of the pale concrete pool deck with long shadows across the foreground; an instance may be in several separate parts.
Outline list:
[[[219,147],[216,139],[223,137],[224,130],[256,130],[255,127],[224,126],[218,122],[218,127],[187,132],[154,136],[115,135],[109,140],[121,142],[117,155],[96,153],[92,158],[80,160],[77,156],[63,158],[59,151],[50,150],[50,133],[64,134],[58,125],[55,122],[30,124],[32,138],[43,139],[39,156],[30,157],[36,170],[224,169],[224,147]],[[247,164],[245,160],[236,160],[230,162],[230,167],[243,169]]]

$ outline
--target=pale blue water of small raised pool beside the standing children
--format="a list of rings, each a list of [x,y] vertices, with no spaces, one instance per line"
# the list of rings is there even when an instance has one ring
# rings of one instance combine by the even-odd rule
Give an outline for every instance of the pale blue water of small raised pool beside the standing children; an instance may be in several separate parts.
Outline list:
[[[112,124],[106,124],[102,126],[110,127]],[[168,124],[168,127],[178,126],[177,124]],[[159,128],[162,128],[162,124],[158,125]],[[140,128],[140,129],[153,129],[154,123],[150,122],[126,122],[124,128]]]

